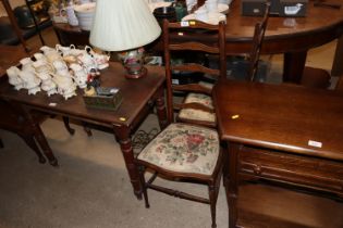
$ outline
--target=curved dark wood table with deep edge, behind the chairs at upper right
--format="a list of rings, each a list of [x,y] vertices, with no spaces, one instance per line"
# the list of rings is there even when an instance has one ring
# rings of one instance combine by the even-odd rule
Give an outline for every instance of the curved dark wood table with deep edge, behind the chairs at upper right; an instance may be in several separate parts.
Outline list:
[[[293,51],[306,51],[322,46],[343,33],[343,2],[340,10],[314,7],[314,0],[307,4],[305,17],[270,16],[265,35],[262,53],[274,54]],[[226,16],[226,53],[249,53],[255,24],[262,17],[242,16],[241,0],[233,0]]]

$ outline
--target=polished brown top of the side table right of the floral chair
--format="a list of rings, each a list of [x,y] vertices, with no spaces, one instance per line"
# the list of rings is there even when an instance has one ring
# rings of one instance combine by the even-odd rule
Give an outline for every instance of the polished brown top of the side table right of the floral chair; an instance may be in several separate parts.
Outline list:
[[[224,80],[213,102],[222,140],[343,161],[342,91]]]

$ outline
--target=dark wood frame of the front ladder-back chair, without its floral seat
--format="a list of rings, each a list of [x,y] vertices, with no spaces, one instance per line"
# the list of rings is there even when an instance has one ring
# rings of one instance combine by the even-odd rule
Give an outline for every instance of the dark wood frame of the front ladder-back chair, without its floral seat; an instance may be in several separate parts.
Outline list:
[[[187,41],[184,43],[170,43],[169,39],[169,29],[182,29],[183,27],[181,26],[180,23],[169,23],[167,20],[163,22],[163,42],[164,42],[164,58],[166,58],[166,74],[167,74],[167,102],[168,102],[168,119],[169,123],[174,122],[174,105],[173,105],[173,90],[182,90],[186,89],[186,91],[193,91],[193,92],[204,92],[204,93],[211,93],[211,90],[208,88],[204,88],[203,86],[199,86],[197,84],[191,85],[189,88],[185,88],[185,86],[182,85],[172,85],[171,83],[171,72],[173,69],[177,71],[199,71],[199,72],[205,72],[205,73],[211,73],[217,75],[218,77],[225,77],[226,73],[226,64],[225,64],[225,53],[224,53],[224,23],[220,23],[219,25],[208,25],[201,22],[189,22],[191,28],[199,28],[199,29],[209,29],[212,31],[218,30],[218,36],[220,43],[216,47],[210,47],[207,45],[203,43],[197,43],[195,41]],[[189,27],[188,27],[189,29]],[[220,64],[220,69],[210,69],[201,65],[197,64],[191,64],[191,65],[183,65],[183,66],[171,66],[170,64],[170,50],[197,50],[197,51],[204,51],[209,53],[216,53],[220,55],[220,62],[224,64]],[[201,104],[187,104],[187,105],[180,105],[177,109],[184,107],[184,106],[192,106],[198,107],[198,109],[207,109],[204,107]],[[182,125],[188,125],[188,124],[182,124]],[[205,127],[203,127],[205,128]],[[207,129],[207,128],[205,128]],[[217,227],[216,224],[216,205],[217,205],[217,199],[218,199],[218,193],[219,193],[219,187],[220,187],[220,179],[222,175],[222,161],[223,161],[223,154],[222,151],[219,147],[219,154],[218,154],[218,160],[216,163],[216,166],[213,166],[213,172],[210,175],[205,175],[205,174],[196,174],[196,173],[180,173],[180,172],[171,172],[168,169],[164,169],[163,167],[158,167],[157,165],[154,165],[151,163],[148,163],[146,161],[136,159],[135,162],[138,166],[139,170],[139,180],[142,185],[142,191],[144,194],[145,199],[145,204],[146,207],[149,207],[149,202],[148,202],[148,195],[147,195],[147,189],[154,189],[156,191],[160,191],[176,198],[181,199],[186,199],[191,201],[196,201],[200,203],[206,203],[210,205],[210,212],[211,212],[211,218],[212,218],[212,228]],[[149,178],[149,180],[145,180],[145,170],[149,169],[152,170],[152,176]],[[198,197],[198,195],[193,195],[183,191],[166,188],[162,186],[157,186],[154,185],[154,180],[156,179],[157,176],[161,176],[164,179],[169,180],[174,180],[174,181],[187,181],[187,182],[194,182],[194,183],[201,183],[201,185],[207,185],[208,186],[208,199]]]

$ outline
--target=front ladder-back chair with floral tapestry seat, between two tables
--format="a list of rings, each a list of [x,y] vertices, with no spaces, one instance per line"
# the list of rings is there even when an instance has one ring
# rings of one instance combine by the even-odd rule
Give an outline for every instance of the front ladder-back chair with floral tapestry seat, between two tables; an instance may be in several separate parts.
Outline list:
[[[189,23],[193,28],[209,28],[212,30],[220,30],[220,36],[223,36],[223,24],[212,26],[204,23],[194,22]],[[163,22],[163,37],[166,49],[166,59],[170,60],[169,49],[182,49],[191,47],[192,49],[206,50],[210,53],[218,53],[220,50],[218,47],[206,48],[206,46],[189,42],[184,46],[182,45],[170,45],[168,30],[169,28],[182,28],[180,23]],[[219,29],[220,28],[220,29]],[[189,29],[189,27],[188,27]],[[166,34],[167,33],[167,34]],[[186,31],[184,31],[186,33]],[[222,38],[220,38],[222,39]],[[166,42],[167,41],[167,42]],[[222,43],[223,45],[223,43]],[[223,58],[224,55],[222,55]],[[224,60],[222,60],[224,62]],[[145,149],[135,159],[136,165],[139,170],[139,180],[143,189],[143,195],[145,199],[146,207],[149,207],[147,189],[154,189],[176,198],[206,203],[210,205],[211,212],[211,227],[216,228],[216,204],[220,187],[220,178],[222,174],[222,151],[220,149],[220,142],[218,132],[216,129],[189,124],[189,123],[174,123],[173,118],[173,90],[175,88],[183,89],[185,86],[172,85],[171,71],[172,66],[169,65],[169,61],[166,61],[167,71],[167,99],[168,99],[168,114],[170,125],[163,129],[155,139],[152,139]],[[222,72],[225,72],[225,66],[221,65]],[[203,71],[204,66],[177,66],[173,69],[196,69]],[[218,69],[205,69],[205,72],[220,75]],[[195,92],[208,92],[210,89],[205,88],[200,85],[191,85],[186,91]],[[201,106],[200,104],[198,106]],[[193,107],[193,106],[192,106]],[[201,106],[201,109],[205,109]],[[149,169],[152,172],[151,177],[145,180],[145,170]],[[155,185],[154,180],[157,177],[162,177],[172,181],[193,182],[205,185],[208,187],[208,198],[194,195],[192,192],[184,192],[174,190],[171,188],[163,187],[161,185]]]

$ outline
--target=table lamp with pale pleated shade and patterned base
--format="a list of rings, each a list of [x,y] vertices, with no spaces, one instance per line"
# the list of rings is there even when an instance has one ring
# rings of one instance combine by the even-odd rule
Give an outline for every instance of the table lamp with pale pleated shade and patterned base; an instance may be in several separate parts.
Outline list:
[[[97,0],[89,42],[103,51],[119,52],[126,78],[147,74],[142,48],[161,34],[145,0]]]

